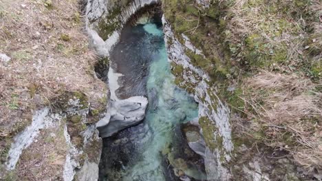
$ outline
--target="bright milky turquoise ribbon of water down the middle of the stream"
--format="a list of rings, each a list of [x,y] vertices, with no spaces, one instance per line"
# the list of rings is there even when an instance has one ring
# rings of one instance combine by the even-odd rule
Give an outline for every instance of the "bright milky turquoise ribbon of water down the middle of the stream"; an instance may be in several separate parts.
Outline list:
[[[144,30],[149,34],[162,35],[162,29],[153,24],[144,25]],[[158,108],[153,110],[150,107],[146,116],[153,138],[150,146],[142,153],[142,160],[133,165],[124,180],[133,180],[136,177],[140,180],[164,180],[162,173],[158,173],[162,160],[160,152],[171,143],[176,125],[191,121],[198,115],[197,104],[174,84],[164,45],[157,57],[151,63],[147,81],[148,92],[151,89],[156,90],[158,102]]]

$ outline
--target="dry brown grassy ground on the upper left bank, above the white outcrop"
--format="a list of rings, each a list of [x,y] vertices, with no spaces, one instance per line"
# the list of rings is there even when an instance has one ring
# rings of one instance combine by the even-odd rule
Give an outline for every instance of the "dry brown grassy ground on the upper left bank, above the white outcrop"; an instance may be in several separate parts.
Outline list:
[[[32,112],[67,91],[80,91],[91,106],[106,96],[94,73],[76,0],[0,0],[0,157]],[[1,167],[0,167],[1,172]]]

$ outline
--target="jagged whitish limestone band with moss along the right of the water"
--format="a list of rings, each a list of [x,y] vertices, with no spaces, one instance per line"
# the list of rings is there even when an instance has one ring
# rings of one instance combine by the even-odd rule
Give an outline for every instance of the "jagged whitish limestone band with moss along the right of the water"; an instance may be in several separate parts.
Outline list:
[[[200,3],[202,3],[200,1]],[[208,147],[202,147],[204,143],[190,143],[189,146],[204,156],[204,162],[208,180],[230,180],[231,175],[229,169],[224,167],[225,162],[230,160],[230,152],[233,150],[233,143],[231,141],[231,128],[229,123],[230,110],[222,101],[215,95],[215,88],[208,84],[209,77],[202,69],[193,66],[191,59],[186,56],[185,50],[193,51],[197,54],[203,55],[202,51],[196,49],[190,42],[187,36],[181,35],[184,39],[184,45],[180,43],[178,38],[175,37],[171,29],[171,25],[163,17],[162,22],[164,25],[164,39],[168,49],[168,58],[170,62],[175,62],[184,67],[184,82],[183,84],[195,84],[195,101],[199,103],[199,117],[205,117],[211,122],[215,128],[214,132],[206,133],[213,135],[215,139],[217,136],[222,138],[221,145],[216,145],[216,149],[211,150]],[[201,77],[201,80],[196,80],[195,76]],[[211,109],[210,109],[211,107]],[[219,150],[220,149],[220,150]],[[204,153],[202,153],[204,152]],[[224,159],[222,159],[222,157]]]

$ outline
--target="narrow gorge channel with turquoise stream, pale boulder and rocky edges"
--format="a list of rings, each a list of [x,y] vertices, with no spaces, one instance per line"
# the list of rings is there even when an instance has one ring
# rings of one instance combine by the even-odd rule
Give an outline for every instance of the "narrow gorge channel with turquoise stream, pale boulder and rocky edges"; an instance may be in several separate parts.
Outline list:
[[[168,44],[174,37],[163,16],[161,2],[133,1],[122,8],[118,6],[120,4],[116,3],[114,8],[107,6],[112,8],[103,16],[107,19],[96,19],[92,23],[98,33],[93,37],[107,35],[105,45],[94,45],[98,52],[103,52],[101,56],[109,60],[108,73],[100,70],[100,75],[107,77],[111,90],[105,116],[109,121],[102,119],[97,125],[103,137],[99,180],[219,178],[222,173],[218,173],[215,166],[215,155],[206,147],[198,120],[209,114],[217,117],[221,126],[228,127],[229,110],[222,104],[219,113],[208,113],[203,104],[198,106],[198,95],[175,85],[171,73],[171,69],[178,69],[170,65],[175,60],[186,61],[180,64],[189,66],[184,48],[198,53],[200,50],[193,45],[183,47],[178,40],[175,47]],[[114,11],[120,14],[114,14]],[[107,32],[111,27],[122,28]],[[189,38],[186,37],[186,41],[188,44]],[[111,47],[111,43],[115,45]],[[111,50],[106,51],[108,48]],[[201,69],[190,67],[197,76],[208,79]],[[202,91],[202,86],[206,85],[200,86]],[[229,128],[223,129],[229,131]],[[225,136],[228,136],[225,144],[232,149],[230,132]]]

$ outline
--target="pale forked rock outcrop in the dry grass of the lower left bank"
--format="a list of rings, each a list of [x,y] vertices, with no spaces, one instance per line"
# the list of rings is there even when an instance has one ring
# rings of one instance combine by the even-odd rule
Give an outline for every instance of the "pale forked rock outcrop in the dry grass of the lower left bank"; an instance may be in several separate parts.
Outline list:
[[[88,114],[88,108],[83,110],[76,109],[79,107],[79,100],[70,99],[68,104],[76,105],[74,107],[67,108],[66,112],[68,114]],[[59,128],[63,126],[65,143],[62,143],[61,147],[67,147],[68,152],[65,157],[64,169],[63,169],[63,179],[65,181],[74,180],[74,176],[77,173],[76,168],[81,169],[82,173],[79,173],[78,176],[86,177],[91,176],[91,178],[98,178],[98,162],[89,162],[87,161],[87,166],[83,168],[81,166],[81,160],[79,156],[83,155],[84,147],[87,144],[91,144],[92,141],[98,142],[100,138],[98,137],[98,131],[95,128],[95,125],[87,125],[87,129],[84,132],[79,132],[79,135],[83,136],[84,143],[83,148],[76,148],[72,144],[71,138],[67,132],[66,124],[66,112],[51,112],[50,108],[43,108],[42,110],[36,111],[32,123],[25,130],[17,134],[14,137],[13,143],[8,152],[8,160],[6,162],[7,169],[13,170],[24,149],[27,149],[32,143],[36,142],[37,137],[39,136],[40,130],[50,131],[52,128]],[[84,117],[86,117],[86,115]],[[51,132],[50,134],[55,134]],[[98,151],[100,152],[100,150]],[[88,154],[88,153],[87,153]],[[98,154],[98,158],[100,154]],[[91,168],[90,170],[87,168]]]

